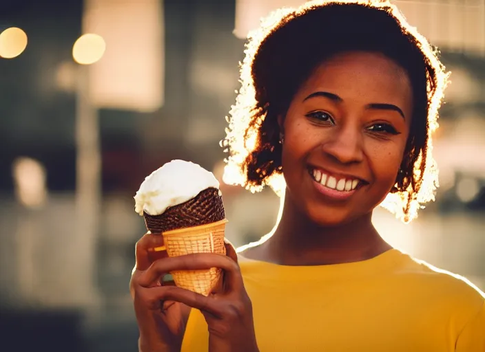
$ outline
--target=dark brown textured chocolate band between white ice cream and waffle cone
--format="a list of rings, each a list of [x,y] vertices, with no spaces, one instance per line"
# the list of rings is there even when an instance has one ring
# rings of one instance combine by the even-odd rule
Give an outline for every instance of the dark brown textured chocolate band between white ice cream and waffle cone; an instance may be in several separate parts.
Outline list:
[[[147,230],[154,234],[206,225],[225,219],[223,197],[217,188],[207,188],[196,197],[169,207],[163,214],[143,214]]]

